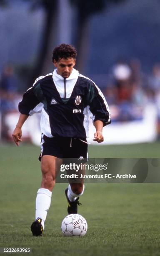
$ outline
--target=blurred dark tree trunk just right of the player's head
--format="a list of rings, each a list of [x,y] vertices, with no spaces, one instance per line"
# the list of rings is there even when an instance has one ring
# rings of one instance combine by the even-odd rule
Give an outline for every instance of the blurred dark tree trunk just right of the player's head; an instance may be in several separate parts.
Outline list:
[[[118,4],[125,0],[70,0],[77,8],[77,27],[75,46],[77,48],[77,68],[85,72],[84,63],[87,61],[89,46],[89,21],[90,16],[102,12],[105,7]]]

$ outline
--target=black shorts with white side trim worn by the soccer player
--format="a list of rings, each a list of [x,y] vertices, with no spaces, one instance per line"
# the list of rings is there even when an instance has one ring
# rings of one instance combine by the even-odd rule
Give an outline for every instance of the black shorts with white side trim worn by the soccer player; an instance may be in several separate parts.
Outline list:
[[[50,155],[61,159],[77,159],[84,163],[87,161],[87,148],[86,138],[49,138],[42,133],[39,160],[44,155]]]

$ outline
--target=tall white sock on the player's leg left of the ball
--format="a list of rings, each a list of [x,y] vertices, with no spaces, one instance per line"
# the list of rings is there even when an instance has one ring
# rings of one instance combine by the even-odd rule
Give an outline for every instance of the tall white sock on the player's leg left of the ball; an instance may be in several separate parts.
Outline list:
[[[42,227],[45,228],[44,222],[47,217],[47,212],[50,208],[52,192],[49,189],[40,188],[37,191],[35,200],[35,219],[42,219]]]

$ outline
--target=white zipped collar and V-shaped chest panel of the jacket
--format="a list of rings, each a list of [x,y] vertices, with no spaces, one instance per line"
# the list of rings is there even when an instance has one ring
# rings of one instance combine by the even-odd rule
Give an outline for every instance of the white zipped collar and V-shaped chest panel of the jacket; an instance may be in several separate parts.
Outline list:
[[[72,93],[72,90],[75,86],[75,83],[77,82],[79,72],[76,69],[72,70],[72,73],[70,74],[69,77],[66,78],[66,98],[70,98],[70,95]],[[61,98],[65,97],[65,92],[64,92],[64,78],[57,74],[57,69],[53,71],[53,82],[57,88],[57,91],[60,94]]]

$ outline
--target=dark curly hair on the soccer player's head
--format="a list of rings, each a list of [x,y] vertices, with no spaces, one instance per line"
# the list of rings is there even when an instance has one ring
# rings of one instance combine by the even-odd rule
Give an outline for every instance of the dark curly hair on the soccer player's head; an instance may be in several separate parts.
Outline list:
[[[75,59],[77,56],[77,51],[74,46],[71,44],[60,44],[53,50],[52,61],[59,61],[60,59],[64,58],[73,58]]]

